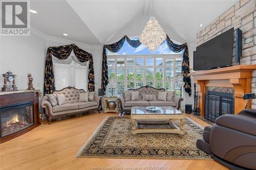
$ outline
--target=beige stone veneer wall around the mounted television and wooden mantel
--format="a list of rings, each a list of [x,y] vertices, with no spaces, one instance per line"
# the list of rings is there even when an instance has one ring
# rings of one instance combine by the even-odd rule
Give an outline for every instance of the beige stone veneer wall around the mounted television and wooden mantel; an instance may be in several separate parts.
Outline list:
[[[236,5],[212,21],[197,34],[197,45],[234,27],[243,32],[241,64],[256,64],[256,0],[240,0]],[[233,43],[233,65],[236,55],[236,34]],[[252,73],[252,92],[256,93],[256,70]],[[256,100],[252,100],[252,108],[256,109]]]

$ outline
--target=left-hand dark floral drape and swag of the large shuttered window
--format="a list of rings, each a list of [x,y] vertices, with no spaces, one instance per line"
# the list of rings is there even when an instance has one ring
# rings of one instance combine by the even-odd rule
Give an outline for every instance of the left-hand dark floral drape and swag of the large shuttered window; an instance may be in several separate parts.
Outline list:
[[[122,39],[120,39],[119,41],[113,44],[103,45],[101,88],[103,89],[104,92],[106,91],[106,85],[108,85],[109,83],[108,60],[106,59],[106,49],[108,49],[112,53],[117,53],[123,46],[123,43],[125,40],[134,48],[137,48],[141,44],[139,40],[131,40],[125,35]]]

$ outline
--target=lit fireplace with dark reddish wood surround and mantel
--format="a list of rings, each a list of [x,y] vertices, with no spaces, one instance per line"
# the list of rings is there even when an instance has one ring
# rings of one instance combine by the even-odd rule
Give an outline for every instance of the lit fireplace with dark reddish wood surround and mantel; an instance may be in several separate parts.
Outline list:
[[[40,125],[38,91],[0,92],[0,143]]]

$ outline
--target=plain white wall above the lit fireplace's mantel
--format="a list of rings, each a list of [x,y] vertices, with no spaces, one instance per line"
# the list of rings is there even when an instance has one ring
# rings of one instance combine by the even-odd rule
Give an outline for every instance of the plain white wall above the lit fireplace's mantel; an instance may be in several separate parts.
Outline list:
[[[28,74],[33,77],[34,88],[44,89],[46,54],[45,39],[31,33],[30,36],[1,36],[1,75],[8,70],[17,75],[18,90],[28,88]],[[2,76],[1,76],[2,77]],[[1,78],[1,87],[4,79]]]

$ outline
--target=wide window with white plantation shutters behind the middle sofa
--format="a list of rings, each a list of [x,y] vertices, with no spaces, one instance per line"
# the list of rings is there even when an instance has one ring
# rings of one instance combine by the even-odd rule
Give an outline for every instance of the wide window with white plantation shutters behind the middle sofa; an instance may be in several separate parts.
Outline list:
[[[181,74],[182,55],[112,55],[108,56],[109,79],[114,79],[114,94],[119,96],[123,90],[145,85],[166,90],[176,90],[180,95],[178,82]],[[108,90],[108,88],[107,88]],[[112,94],[112,89],[107,91]]]

